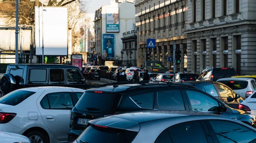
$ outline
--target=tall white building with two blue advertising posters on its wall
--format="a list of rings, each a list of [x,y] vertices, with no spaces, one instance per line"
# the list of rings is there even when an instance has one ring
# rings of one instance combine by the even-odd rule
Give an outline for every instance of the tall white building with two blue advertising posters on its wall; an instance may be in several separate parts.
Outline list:
[[[113,9],[117,9],[117,12],[113,12]],[[133,29],[133,27],[135,27],[134,15],[134,3],[129,0],[111,0],[110,5],[102,6],[95,11],[94,53],[96,53],[99,65],[103,65],[105,61],[120,62],[122,60],[122,34],[130,31],[131,29]],[[113,23],[109,24],[112,17],[114,19]],[[108,39],[109,37],[112,37],[112,40]],[[109,44],[109,41],[111,41],[111,45]],[[109,53],[109,51],[111,51],[111,54]]]

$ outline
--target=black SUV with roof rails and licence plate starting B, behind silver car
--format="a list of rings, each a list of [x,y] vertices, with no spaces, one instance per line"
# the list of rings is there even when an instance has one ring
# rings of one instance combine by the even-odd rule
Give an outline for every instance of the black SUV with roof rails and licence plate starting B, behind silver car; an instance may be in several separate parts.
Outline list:
[[[87,127],[88,121],[120,112],[151,109],[195,110],[236,118],[255,126],[255,116],[232,109],[198,88],[184,84],[104,84],[86,90],[70,111],[68,140],[75,140]],[[118,85],[121,84],[121,85]]]

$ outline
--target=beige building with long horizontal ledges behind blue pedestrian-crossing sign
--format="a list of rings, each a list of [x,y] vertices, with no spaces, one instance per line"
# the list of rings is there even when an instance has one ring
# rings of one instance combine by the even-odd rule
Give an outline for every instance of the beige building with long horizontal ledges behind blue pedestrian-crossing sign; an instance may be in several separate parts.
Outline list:
[[[187,22],[187,0],[136,0],[137,66],[145,62],[145,51],[150,55],[147,61],[162,61],[171,68],[174,43],[181,50],[181,63],[177,71],[184,71],[186,57],[185,25]],[[156,39],[156,48],[146,48],[147,39]]]

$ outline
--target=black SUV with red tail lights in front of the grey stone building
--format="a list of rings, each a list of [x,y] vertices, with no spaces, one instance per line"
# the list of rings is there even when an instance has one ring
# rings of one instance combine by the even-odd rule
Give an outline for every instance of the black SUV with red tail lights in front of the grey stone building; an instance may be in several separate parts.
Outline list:
[[[200,81],[217,81],[221,78],[229,78],[231,76],[237,76],[236,70],[233,67],[207,67],[203,70],[198,80]]]

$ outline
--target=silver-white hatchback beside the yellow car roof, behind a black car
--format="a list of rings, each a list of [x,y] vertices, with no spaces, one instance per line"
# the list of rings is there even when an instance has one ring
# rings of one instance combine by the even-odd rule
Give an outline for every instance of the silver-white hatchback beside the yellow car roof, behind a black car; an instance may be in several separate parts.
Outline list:
[[[250,78],[223,78],[217,82],[226,84],[244,99],[256,90],[256,81]]]

